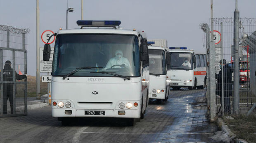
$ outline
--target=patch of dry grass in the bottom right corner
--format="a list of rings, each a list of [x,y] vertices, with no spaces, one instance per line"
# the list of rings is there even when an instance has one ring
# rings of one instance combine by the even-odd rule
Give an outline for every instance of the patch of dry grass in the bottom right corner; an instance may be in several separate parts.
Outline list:
[[[225,123],[232,130],[237,138],[244,139],[248,142],[256,142],[256,115],[232,116],[235,120],[224,119]]]

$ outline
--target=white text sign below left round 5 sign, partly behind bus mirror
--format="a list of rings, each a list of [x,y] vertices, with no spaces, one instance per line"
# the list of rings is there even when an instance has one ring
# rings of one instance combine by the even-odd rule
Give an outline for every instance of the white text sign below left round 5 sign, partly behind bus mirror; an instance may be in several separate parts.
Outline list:
[[[52,58],[54,47],[51,47],[51,55],[49,61],[43,60],[43,48],[44,47],[40,47],[40,72],[52,72]]]

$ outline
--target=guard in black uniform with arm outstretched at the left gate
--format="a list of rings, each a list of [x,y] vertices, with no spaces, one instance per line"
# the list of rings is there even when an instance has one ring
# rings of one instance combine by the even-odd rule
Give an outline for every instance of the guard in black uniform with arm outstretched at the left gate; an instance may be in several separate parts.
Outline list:
[[[11,67],[11,61],[7,60],[5,62],[5,66],[3,69],[3,78],[4,81],[12,81],[12,67]],[[26,75],[19,75],[16,73],[16,80],[22,80],[26,78]],[[7,100],[9,99],[10,105],[11,105],[11,114],[13,114],[13,83],[4,83],[4,109],[3,112],[4,114],[7,114]]]

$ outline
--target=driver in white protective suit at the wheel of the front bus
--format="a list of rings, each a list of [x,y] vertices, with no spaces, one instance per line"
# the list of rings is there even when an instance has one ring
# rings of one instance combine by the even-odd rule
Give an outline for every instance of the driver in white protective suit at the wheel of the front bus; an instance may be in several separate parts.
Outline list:
[[[104,69],[110,68],[130,68],[130,62],[127,58],[123,58],[123,52],[121,50],[116,50],[115,57],[111,58]],[[123,65],[124,64],[124,65]],[[121,66],[122,65],[122,66]]]

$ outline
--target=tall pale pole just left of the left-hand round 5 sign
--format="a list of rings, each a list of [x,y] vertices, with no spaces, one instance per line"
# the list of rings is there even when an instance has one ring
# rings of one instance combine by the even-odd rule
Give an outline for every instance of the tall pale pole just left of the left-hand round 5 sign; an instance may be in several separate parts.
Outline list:
[[[36,98],[40,99],[39,0],[36,0]]]

